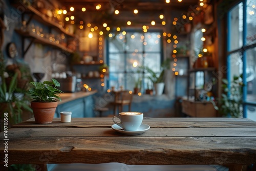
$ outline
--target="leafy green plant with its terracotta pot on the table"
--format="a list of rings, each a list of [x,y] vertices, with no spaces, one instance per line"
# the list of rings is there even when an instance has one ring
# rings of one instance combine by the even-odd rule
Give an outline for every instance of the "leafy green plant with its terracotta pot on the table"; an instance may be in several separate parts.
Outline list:
[[[60,97],[58,93],[63,93],[56,87],[60,87],[60,83],[52,78],[52,81],[30,82],[34,86],[28,93],[33,97],[31,108],[38,124],[52,123],[55,110],[57,108]]]

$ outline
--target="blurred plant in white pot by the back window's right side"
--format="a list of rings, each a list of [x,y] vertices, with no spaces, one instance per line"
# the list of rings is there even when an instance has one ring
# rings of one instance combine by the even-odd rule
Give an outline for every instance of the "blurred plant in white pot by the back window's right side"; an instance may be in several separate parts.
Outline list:
[[[164,71],[166,69],[169,69],[170,67],[170,59],[166,59],[161,67],[160,67],[160,72],[155,72],[149,67],[144,67],[142,66],[141,68],[146,70],[148,74],[150,74],[147,78],[150,79],[155,88],[156,95],[161,95],[163,93],[164,89]]]

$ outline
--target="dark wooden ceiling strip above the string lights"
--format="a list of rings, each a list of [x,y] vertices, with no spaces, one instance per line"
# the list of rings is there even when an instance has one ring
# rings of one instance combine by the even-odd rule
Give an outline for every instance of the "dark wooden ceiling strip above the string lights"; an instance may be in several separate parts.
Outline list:
[[[96,6],[101,5],[101,11],[161,11],[161,10],[187,10],[190,5],[197,5],[199,0],[171,0],[169,4],[165,0],[60,0],[63,7],[69,9],[71,6],[75,9],[85,7],[88,11],[96,11]]]

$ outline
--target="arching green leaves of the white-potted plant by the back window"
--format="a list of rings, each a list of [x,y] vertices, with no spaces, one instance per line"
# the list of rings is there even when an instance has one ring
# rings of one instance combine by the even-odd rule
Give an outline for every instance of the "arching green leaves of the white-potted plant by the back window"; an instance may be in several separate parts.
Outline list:
[[[141,66],[141,69],[144,69],[147,73],[150,74],[150,76],[148,76],[148,79],[150,79],[153,83],[157,83],[157,82],[164,82],[164,71],[166,69],[169,69],[170,67],[170,59],[166,59],[160,68],[160,72],[155,72],[153,71],[151,68],[149,67],[145,67],[145,66]]]

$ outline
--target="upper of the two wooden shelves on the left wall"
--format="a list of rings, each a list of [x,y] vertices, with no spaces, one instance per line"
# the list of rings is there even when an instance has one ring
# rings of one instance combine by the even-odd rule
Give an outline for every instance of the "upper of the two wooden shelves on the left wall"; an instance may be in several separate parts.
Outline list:
[[[24,4],[13,4],[14,7],[18,7],[19,5],[23,5],[25,7],[25,13],[31,13],[31,17],[33,17],[34,19],[38,20],[38,22],[46,25],[46,26],[49,26],[49,27],[52,27],[52,28],[55,28],[57,29],[58,31],[70,36],[70,37],[75,37],[74,34],[71,34],[69,32],[67,32],[60,24],[50,20],[48,17],[46,17],[44,14],[42,14],[41,12],[39,12],[38,10],[36,10],[34,7],[32,6],[26,6]]]

